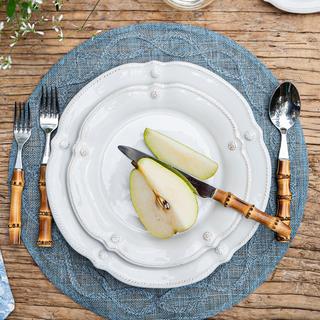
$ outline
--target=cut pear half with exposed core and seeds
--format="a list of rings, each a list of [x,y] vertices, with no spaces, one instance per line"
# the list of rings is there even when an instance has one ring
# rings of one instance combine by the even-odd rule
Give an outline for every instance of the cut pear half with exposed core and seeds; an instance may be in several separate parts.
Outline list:
[[[157,238],[184,232],[197,220],[197,197],[188,184],[152,159],[140,159],[132,170],[130,195],[140,221]]]

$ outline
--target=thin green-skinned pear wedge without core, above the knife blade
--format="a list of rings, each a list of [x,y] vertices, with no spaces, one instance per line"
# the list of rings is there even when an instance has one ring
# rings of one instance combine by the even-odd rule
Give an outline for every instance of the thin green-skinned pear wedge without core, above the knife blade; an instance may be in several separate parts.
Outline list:
[[[156,130],[146,128],[144,141],[159,160],[196,178],[206,180],[218,169],[215,161]]]

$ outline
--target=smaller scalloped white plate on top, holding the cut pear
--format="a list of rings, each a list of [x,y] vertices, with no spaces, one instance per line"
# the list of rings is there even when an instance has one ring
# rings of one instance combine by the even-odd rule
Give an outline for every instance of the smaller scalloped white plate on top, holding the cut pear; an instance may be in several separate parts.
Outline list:
[[[237,121],[242,118],[238,115]],[[219,169],[209,182],[247,199],[251,164],[237,121],[207,94],[178,83],[132,86],[108,96],[84,121],[67,174],[69,196],[83,228],[108,250],[146,267],[177,266],[216,248],[235,229],[240,215],[199,198],[198,221],[190,230],[167,240],[151,236],[130,200],[133,167],[117,146],[148,152],[145,127],[160,130],[215,159]],[[231,151],[232,141],[237,148]],[[254,174],[260,180],[264,172]],[[210,247],[205,233],[211,234]]]

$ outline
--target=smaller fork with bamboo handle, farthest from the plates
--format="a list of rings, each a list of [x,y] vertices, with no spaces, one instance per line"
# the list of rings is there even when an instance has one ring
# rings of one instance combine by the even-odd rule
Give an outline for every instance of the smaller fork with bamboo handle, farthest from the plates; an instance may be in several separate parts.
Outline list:
[[[21,243],[21,207],[24,188],[22,149],[31,136],[31,115],[29,103],[14,104],[14,138],[18,144],[16,163],[11,178],[11,199],[9,216],[9,244]]]

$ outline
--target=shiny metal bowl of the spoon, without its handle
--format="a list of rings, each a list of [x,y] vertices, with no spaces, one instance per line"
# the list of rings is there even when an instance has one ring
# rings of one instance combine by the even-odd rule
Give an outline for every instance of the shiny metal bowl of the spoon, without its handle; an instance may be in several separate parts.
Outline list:
[[[300,96],[291,82],[283,82],[275,90],[269,106],[272,123],[283,133],[289,130],[300,115]]]

